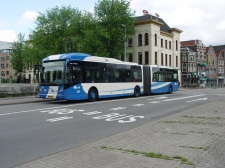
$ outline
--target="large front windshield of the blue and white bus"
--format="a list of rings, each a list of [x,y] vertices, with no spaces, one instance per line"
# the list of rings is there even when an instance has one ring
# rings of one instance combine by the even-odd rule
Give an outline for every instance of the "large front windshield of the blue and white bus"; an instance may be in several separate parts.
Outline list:
[[[44,62],[41,70],[41,85],[59,86],[63,84],[65,61]]]

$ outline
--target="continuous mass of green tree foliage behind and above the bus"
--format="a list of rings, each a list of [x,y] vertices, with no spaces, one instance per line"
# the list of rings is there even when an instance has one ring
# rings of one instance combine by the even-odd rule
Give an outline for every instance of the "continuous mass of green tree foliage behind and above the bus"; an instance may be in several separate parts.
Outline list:
[[[120,58],[124,55],[122,24],[126,26],[126,36],[132,36],[135,18],[130,1],[99,0],[94,13],[56,6],[40,13],[35,23],[30,39],[24,43],[20,34],[21,39],[14,44],[12,64],[19,72],[52,54],[84,52]]]

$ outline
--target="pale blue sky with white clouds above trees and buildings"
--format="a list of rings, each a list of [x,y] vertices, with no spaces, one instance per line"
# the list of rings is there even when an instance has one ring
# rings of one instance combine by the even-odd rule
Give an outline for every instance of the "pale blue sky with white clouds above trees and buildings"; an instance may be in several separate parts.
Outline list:
[[[39,13],[56,6],[71,6],[94,11],[99,0],[1,0],[0,41],[14,42],[19,33],[25,37],[35,28]],[[224,0],[130,0],[135,16],[143,10],[159,15],[170,28],[182,30],[180,40],[202,40],[205,46],[225,45]]]

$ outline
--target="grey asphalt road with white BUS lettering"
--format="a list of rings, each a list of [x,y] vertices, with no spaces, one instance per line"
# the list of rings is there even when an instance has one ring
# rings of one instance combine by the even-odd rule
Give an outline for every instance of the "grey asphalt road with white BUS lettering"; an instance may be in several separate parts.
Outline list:
[[[0,167],[8,168],[126,131],[225,96],[225,89],[0,106]]]

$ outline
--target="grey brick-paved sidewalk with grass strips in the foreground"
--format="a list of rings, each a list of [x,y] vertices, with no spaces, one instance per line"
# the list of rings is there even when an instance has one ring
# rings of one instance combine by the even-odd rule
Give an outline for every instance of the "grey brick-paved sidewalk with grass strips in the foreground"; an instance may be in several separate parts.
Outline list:
[[[17,168],[224,168],[225,98]]]

